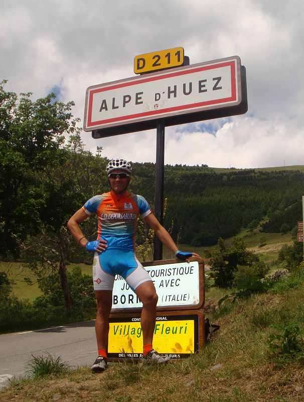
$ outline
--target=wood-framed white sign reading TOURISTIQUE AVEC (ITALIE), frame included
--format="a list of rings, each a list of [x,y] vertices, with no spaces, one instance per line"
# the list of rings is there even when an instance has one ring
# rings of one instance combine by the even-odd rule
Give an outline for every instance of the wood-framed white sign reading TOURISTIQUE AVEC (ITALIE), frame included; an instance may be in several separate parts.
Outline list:
[[[204,305],[204,261],[193,257],[188,262],[154,261],[145,264],[159,296],[158,311],[200,309]],[[112,313],[141,311],[138,297],[119,275],[115,276]]]

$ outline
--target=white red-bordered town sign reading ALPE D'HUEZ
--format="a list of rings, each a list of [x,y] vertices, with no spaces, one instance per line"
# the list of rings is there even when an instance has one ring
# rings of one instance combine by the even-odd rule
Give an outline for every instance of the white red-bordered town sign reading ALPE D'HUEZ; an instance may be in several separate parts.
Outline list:
[[[88,87],[85,131],[241,103],[238,56]]]

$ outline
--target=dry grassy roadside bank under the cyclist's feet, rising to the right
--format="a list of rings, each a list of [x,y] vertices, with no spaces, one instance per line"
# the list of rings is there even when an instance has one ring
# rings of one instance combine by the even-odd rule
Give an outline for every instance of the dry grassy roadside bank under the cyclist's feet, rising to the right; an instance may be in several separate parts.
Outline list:
[[[303,311],[302,285],[254,295],[210,316],[220,331],[189,359],[165,367],[110,363],[97,375],[86,367],[59,377],[16,381],[0,393],[0,401],[304,401],[303,360],[275,364],[267,347],[271,324],[291,321],[304,330]]]

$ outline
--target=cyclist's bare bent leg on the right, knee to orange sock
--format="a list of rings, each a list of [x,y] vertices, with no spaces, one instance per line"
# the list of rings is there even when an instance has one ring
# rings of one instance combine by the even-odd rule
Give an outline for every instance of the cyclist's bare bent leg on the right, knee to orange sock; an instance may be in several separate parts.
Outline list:
[[[141,283],[135,289],[135,293],[143,305],[140,318],[143,345],[152,344],[156,322],[156,306],[159,297],[152,281]]]

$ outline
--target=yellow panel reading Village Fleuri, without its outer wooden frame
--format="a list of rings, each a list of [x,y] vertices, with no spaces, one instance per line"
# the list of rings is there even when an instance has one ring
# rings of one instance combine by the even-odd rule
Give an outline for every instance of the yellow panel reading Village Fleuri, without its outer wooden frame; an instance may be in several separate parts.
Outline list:
[[[153,347],[173,358],[186,357],[197,350],[197,320],[182,316],[179,320],[157,321]],[[133,319],[134,320],[134,319]],[[110,322],[109,357],[142,357],[142,333],[139,321]]]

